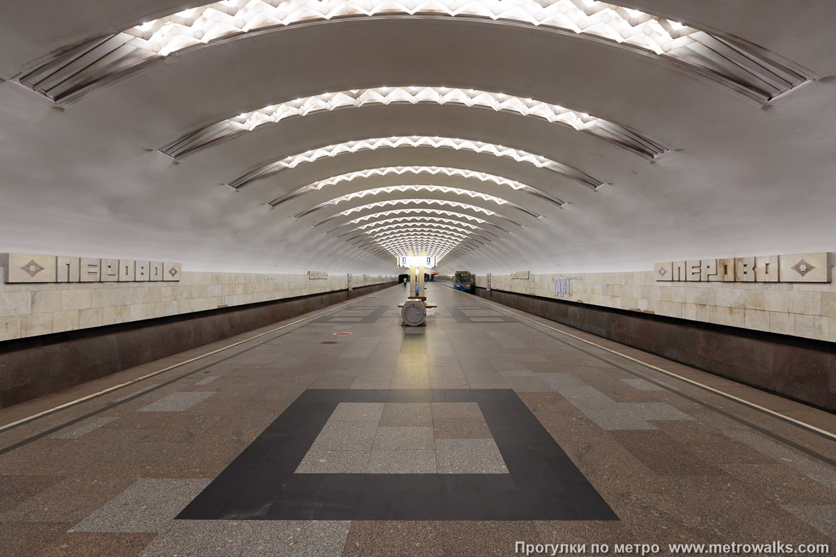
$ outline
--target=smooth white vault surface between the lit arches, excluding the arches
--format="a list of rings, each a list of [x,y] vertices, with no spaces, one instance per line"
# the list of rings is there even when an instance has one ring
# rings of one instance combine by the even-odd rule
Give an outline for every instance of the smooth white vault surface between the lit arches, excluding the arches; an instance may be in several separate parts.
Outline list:
[[[0,18],[0,76],[56,48],[200,3],[14,0]],[[625,2],[737,35],[801,64],[817,82],[762,107],[655,57],[544,29],[455,18],[358,18],[284,28],[176,53],[60,109],[11,79],[0,84],[0,251],[183,261],[191,271],[390,273],[391,256],[327,230],[385,199],[455,200],[497,210],[487,246],[441,270],[649,269],[654,261],[836,249],[836,3],[808,0]],[[60,9],[59,9],[60,8]],[[368,105],[269,124],[179,162],[159,149],[195,129],[328,91],[412,84],[482,89],[578,109],[674,151],[655,162],[560,124],[489,109]],[[507,145],[583,170],[598,190],[490,154],[377,149],[285,170],[235,191],[261,165],[356,139],[427,135]],[[450,166],[517,180],[558,207],[492,182],[386,175],[341,182],[273,209],[269,201],[334,175],[397,165]],[[542,217],[436,192],[394,192],[293,215],[385,185],[478,190]],[[438,205],[426,205],[450,209]],[[457,212],[468,213],[466,210]],[[385,217],[383,217],[385,218]],[[496,230],[496,229],[493,229]]]

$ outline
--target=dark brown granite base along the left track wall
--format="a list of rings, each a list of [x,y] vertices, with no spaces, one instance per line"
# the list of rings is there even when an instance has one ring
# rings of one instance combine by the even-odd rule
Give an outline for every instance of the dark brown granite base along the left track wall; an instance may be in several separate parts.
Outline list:
[[[0,408],[363,296],[395,283],[0,342]]]

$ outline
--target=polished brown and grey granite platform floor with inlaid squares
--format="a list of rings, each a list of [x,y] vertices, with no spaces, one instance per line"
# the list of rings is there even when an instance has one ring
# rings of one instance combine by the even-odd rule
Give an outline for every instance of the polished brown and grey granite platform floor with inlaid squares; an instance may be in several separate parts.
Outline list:
[[[0,410],[0,555],[833,553],[833,414],[428,296],[426,327],[395,286]]]

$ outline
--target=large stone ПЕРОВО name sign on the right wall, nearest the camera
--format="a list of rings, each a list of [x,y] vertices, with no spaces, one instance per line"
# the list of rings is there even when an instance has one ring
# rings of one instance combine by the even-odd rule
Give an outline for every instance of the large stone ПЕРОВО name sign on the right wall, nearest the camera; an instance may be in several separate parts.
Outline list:
[[[788,256],[735,257],[656,263],[657,281],[830,282],[833,256],[797,253]]]

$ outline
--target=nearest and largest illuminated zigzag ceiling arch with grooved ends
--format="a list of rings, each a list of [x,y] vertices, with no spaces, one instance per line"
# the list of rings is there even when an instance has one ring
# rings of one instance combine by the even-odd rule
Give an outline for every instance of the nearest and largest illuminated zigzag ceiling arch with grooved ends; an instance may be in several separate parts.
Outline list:
[[[74,102],[94,89],[125,78],[170,53],[200,48],[247,33],[270,33],[291,25],[345,18],[498,20],[631,48],[715,79],[742,94],[769,102],[813,74],[757,45],[721,33],[597,0],[222,0],[152,19],[76,48],[56,53],[18,81],[57,102]]]

